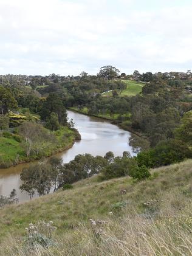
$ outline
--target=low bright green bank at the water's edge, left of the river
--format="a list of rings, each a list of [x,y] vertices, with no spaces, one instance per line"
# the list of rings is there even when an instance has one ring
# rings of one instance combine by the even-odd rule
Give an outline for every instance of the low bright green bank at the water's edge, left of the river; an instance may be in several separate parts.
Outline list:
[[[49,142],[43,142],[38,154],[27,157],[22,141],[17,141],[14,137],[0,137],[0,170],[14,165],[33,162],[42,157],[49,157],[71,148],[75,140],[80,140],[81,136],[76,129],[61,127],[58,131],[50,132]]]

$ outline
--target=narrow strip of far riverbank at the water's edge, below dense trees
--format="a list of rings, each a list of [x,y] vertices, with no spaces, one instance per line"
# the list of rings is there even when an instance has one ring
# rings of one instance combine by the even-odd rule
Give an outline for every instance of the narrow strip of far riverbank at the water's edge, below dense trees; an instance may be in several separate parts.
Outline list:
[[[71,111],[80,113],[80,114],[84,114],[86,116],[91,116],[91,117],[98,117],[100,119],[106,120],[108,122],[111,122],[113,125],[117,125],[118,127],[122,128],[125,131],[129,131],[130,133],[133,133],[139,137],[143,137],[143,134],[140,133],[139,131],[135,131],[134,129],[132,129],[131,125],[125,125],[123,124],[123,122],[121,122],[120,120],[118,120],[118,114],[112,114],[111,116],[109,114],[106,115],[94,115],[94,114],[88,114],[87,112],[87,108],[83,108],[83,109],[78,109],[76,107],[70,107],[68,108]],[[127,115],[122,115],[122,117],[130,117],[130,114],[128,113]]]

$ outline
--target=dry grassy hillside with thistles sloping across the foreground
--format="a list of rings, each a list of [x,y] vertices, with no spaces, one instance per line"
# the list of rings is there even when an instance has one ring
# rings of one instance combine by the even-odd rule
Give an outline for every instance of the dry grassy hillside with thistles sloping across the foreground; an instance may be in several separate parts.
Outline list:
[[[142,182],[94,176],[1,209],[0,255],[192,255],[192,160],[151,173]],[[30,251],[25,228],[38,221],[57,227],[53,246]]]

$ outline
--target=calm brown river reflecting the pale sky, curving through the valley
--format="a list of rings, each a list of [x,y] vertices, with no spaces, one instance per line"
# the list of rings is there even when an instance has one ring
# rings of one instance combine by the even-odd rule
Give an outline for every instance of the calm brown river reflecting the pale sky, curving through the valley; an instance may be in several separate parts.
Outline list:
[[[81,134],[81,140],[75,142],[69,150],[63,151],[57,156],[63,158],[63,162],[69,162],[77,154],[90,153],[93,156],[104,156],[106,152],[112,151],[115,156],[121,156],[123,151],[132,153],[129,146],[131,133],[124,131],[110,122],[97,117],[89,117],[77,112],[67,111],[69,119],[73,119],[75,128]],[[0,195],[8,196],[12,189],[16,189],[19,201],[26,201],[29,196],[19,190],[21,185],[20,173],[22,168],[30,163],[17,165],[7,169],[0,169]]]

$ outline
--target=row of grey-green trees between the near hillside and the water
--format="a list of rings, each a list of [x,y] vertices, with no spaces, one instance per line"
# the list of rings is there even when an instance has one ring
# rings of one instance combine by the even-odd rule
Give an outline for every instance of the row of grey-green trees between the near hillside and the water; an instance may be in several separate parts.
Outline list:
[[[150,173],[145,165],[137,162],[137,157],[131,157],[127,151],[123,152],[122,157],[115,157],[111,151],[104,157],[78,154],[67,164],[63,164],[62,159],[51,157],[48,161],[22,170],[20,189],[32,199],[36,193],[46,195],[93,175],[98,175],[100,181],[127,175],[140,181],[148,178]]]

